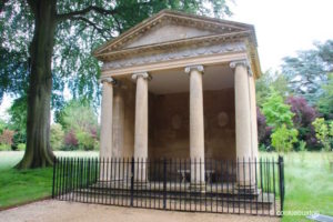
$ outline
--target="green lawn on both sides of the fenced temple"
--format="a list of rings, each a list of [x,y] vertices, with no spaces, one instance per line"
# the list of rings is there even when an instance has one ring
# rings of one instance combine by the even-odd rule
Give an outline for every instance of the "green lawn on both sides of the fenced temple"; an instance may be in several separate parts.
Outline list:
[[[97,152],[56,152],[58,157],[98,157]],[[11,169],[22,152],[0,152],[0,208],[51,194],[52,169],[17,171]],[[261,153],[262,157],[278,157]],[[285,155],[285,208],[291,211],[333,213],[333,172],[327,157],[333,153],[304,152]],[[305,216],[285,215],[283,221],[304,221]]]

